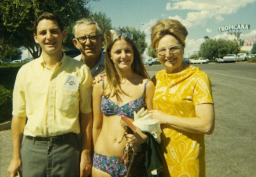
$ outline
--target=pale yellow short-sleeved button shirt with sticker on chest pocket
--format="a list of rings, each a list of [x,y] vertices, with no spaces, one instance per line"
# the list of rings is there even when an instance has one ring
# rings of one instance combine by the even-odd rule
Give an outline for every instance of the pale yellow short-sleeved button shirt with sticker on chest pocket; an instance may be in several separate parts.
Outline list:
[[[17,73],[12,115],[27,117],[24,135],[79,133],[79,112],[89,113],[93,79],[89,67],[63,54],[54,71],[42,56]]]

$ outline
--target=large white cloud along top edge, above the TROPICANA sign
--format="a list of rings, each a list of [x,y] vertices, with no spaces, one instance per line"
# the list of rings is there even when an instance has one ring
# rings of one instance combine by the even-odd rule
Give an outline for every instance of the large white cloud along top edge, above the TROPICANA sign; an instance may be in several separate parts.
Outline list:
[[[234,14],[239,8],[254,2],[256,0],[172,0],[166,4],[166,10],[188,10],[189,12],[185,19],[179,16],[169,18],[179,20],[186,27],[192,27],[205,25],[209,19],[221,22],[224,20],[222,15]]]

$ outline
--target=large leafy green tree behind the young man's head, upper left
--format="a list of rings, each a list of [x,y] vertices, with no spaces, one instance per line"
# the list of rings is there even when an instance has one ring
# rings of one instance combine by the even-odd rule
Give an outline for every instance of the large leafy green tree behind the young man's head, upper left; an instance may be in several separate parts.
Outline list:
[[[0,33],[1,38],[16,48],[26,48],[33,58],[41,54],[41,48],[33,39],[33,22],[44,11],[58,14],[65,26],[67,39],[64,49],[74,48],[72,44],[73,23],[87,17],[89,11],[84,7],[90,0],[1,0]]]

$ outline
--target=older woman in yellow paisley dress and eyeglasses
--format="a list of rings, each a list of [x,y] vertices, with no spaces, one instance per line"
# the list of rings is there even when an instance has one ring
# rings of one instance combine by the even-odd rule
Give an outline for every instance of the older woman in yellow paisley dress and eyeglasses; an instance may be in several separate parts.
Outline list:
[[[151,28],[152,47],[165,67],[152,79],[153,108],[163,130],[164,176],[205,177],[204,134],[214,129],[209,76],[183,62],[188,32],[177,20],[160,20]]]

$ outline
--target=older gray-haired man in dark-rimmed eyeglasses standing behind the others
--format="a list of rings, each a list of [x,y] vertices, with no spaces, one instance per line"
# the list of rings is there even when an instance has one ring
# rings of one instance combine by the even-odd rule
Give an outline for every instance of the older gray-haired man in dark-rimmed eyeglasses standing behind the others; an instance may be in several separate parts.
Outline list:
[[[105,70],[105,53],[102,52],[103,28],[93,17],[77,20],[73,27],[73,44],[81,51],[74,59],[84,62],[93,77]]]

